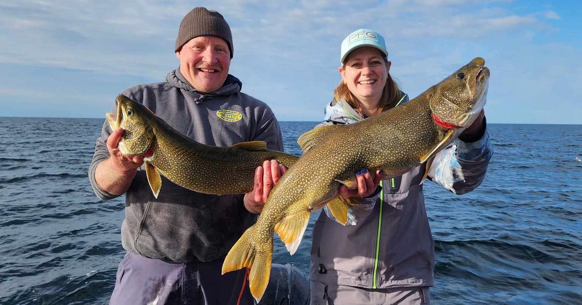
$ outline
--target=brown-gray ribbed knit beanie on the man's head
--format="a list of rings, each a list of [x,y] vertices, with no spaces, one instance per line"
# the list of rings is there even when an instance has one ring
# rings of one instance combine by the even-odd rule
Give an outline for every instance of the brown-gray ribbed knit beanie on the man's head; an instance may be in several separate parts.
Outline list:
[[[190,10],[182,19],[176,38],[175,52],[178,52],[192,38],[204,35],[217,36],[226,41],[230,49],[230,58],[232,58],[234,50],[232,48],[232,33],[230,33],[228,23],[216,10],[208,10],[201,6]]]

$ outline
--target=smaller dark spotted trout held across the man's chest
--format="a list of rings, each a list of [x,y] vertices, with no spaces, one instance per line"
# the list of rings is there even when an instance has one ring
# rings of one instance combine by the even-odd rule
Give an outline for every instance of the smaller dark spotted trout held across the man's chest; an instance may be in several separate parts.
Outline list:
[[[264,141],[229,147],[201,144],[125,95],[119,95],[116,102],[117,113],[106,117],[112,130],[125,130],[119,151],[123,155],[144,155],[145,173],[156,198],[162,185],[160,173],[173,183],[200,193],[243,194],[253,190],[255,168],[263,161],[276,159],[289,167],[299,158],[267,150]]]

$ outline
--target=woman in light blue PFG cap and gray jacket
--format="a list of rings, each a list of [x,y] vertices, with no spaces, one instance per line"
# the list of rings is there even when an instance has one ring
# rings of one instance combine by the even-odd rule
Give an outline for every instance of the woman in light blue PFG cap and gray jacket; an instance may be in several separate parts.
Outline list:
[[[318,126],[351,124],[408,101],[390,76],[384,38],[354,31],[342,42],[342,76],[334,100]],[[492,150],[484,112],[439,152],[428,179],[456,194],[475,189],[484,179]],[[467,162],[469,161],[469,162]],[[342,226],[327,210],[313,230],[311,304],[430,304],[434,281],[434,242],[424,205],[424,164],[402,176],[377,180],[359,171],[358,189],[344,197],[363,197],[370,215]],[[438,175],[435,174],[438,172]]]

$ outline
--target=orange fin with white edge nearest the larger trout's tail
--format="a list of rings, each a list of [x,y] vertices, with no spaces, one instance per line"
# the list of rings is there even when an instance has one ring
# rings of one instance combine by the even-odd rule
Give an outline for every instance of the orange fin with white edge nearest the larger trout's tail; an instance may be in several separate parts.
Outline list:
[[[295,251],[299,248],[303,234],[307,229],[309,215],[311,213],[308,210],[296,212],[286,215],[275,225],[275,232],[279,234],[291,255],[295,254]]]

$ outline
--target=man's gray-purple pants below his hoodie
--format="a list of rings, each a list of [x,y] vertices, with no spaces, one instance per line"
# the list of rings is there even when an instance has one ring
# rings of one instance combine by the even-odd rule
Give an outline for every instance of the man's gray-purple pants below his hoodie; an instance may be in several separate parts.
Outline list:
[[[256,304],[246,269],[222,275],[222,262],[168,263],[128,251],[119,263],[109,304]]]

